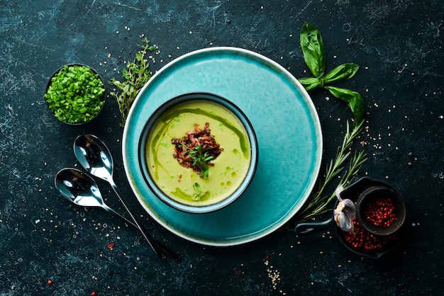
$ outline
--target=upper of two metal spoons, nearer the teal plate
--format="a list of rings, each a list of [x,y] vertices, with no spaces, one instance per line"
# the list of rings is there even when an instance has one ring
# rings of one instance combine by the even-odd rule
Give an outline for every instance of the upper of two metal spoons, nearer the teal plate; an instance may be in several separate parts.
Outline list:
[[[170,250],[166,249],[165,246],[160,245],[159,242],[152,239],[148,233],[148,229],[143,226],[143,223],[138,220],[128,207],[128,202],[123,198],[123,195],[121,195],[117,189],[116,183],[113,181],[113,158],[104,142],[94,135],[79,135],[74,141],[74,154],[84,169],[111,185],[126,211],[138,226],[140,232],[142,232],[143,237],[148,241],[152,250],[155,251],[155,254],[160,258],[165,258],[166,256],[177,258],[176,254],[173,254]]]

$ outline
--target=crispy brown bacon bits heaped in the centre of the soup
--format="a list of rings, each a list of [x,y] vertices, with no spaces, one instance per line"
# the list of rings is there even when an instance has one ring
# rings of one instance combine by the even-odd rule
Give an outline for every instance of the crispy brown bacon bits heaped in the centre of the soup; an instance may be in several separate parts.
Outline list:
[[[190,157],[190,151],[195,151],[197,147],[201,146],[201,151],[208,152],[209,156],[213,159],[221,154],[223,148],[220,144],[216,143],[216,140],[211,135],[209,129],[209,123],[205,124],[204,130],[199,129],[199,124],[194,125],[194,130],[185,132],[187,134],[182,139],[172,139],[171,143],[174,144],[173,157],[177,159],[177,162],[184,168],[191,168],[196,173],[201,174],[201,166],[193,165],[193,159]],[[206,161],[206,164],[213,166],[211,161]]]

